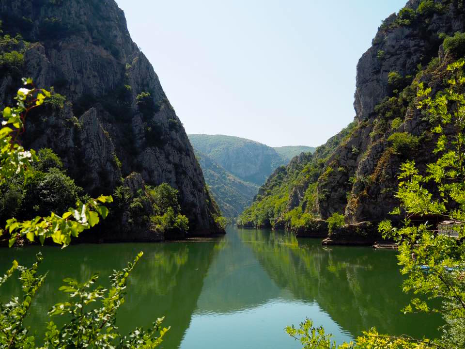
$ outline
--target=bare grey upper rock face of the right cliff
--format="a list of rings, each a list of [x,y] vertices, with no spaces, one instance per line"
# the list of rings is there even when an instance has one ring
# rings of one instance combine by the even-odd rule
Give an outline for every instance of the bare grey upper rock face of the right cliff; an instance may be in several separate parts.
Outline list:
[[[418,9],[421,0],[409,0],[406,8]],[[418,64],[428,64],[437,56],[442,43],[439,33],[464,32],[465,16],[461,1],[436,1],[444,9],[431,15],[419,15],[409,25],[396,25],[399,16],[387,17],[369,48],[357,64],[354,108],[356,118],[364,121],[376,117],[374,107],[391,94],[389,72],[403,77],[415,75]]]

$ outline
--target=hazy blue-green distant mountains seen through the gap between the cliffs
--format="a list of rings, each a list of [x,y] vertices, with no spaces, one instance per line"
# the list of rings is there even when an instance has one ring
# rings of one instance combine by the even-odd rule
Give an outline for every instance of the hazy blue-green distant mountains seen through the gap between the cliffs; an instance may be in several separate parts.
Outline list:
[[[188,135],[205,182],[226,217],[237,217],[249,206],[258,188],[279,166],[294,156],[313,152],[308,146],[272,148],[245,138]]]

